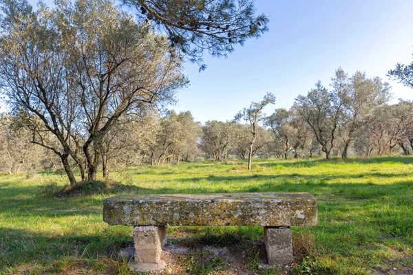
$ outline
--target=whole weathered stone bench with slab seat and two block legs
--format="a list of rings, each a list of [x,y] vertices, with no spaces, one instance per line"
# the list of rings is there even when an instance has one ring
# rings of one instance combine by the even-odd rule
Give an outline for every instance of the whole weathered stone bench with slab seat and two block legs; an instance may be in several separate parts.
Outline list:
[[[132,225],[136,270],[165,267],[160,254],[167,225],[263,226],[270,265],[293,261],[290,226],[317,225],[317,201],[302,193],[226,193],[116,196],[103,201],[109,225]]]

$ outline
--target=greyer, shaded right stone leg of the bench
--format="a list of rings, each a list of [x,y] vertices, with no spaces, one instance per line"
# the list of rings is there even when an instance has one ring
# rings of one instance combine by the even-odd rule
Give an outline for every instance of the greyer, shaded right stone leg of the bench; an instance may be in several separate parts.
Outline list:
[[[264,243],[270,265],[293,263],[293,241],[289,227],[264,227]]]

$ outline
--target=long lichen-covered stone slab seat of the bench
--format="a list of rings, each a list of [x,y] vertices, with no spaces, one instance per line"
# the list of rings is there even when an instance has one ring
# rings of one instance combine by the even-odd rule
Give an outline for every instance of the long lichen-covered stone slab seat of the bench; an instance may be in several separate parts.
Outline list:
[[[317,225],[317,201],[302,193],[117,196],[103,201],[110,225]]]

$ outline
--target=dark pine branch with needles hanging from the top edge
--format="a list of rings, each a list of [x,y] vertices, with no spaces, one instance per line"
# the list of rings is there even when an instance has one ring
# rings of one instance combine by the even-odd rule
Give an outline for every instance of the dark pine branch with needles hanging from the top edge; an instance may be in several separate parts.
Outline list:
[[[255,15],[252,0],[122,0],[138,16],[165,32],[170,45],[205,69],[204,50],[226,56],[234,45],[268,31],[264,14]]]

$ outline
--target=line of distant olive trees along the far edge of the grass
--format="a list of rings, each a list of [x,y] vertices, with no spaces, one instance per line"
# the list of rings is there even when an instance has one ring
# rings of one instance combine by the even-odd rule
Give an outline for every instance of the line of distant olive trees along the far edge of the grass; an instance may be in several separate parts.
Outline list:
[[[251,168],[253,157],[410,155],[413,102],[389,104],[390,98],[390,86],[380,78],[368,78],[362,72],[348,76],[339,68],[330,89],[317,82],[306,96],[297,97],[293,107],[275,109],[270,115],[263,109],[275,102],[273,94],[252,102],[231,121],[212,120],[203,125],[189,111],[161,115],[155,108],[142,108],[138,115],[123,116],[107,131],[95,166],[101,165],[103,177],[108,177],[110,171],[126,164],[248,159]],[[59,166],[56,156],[50,157],[47,151],[29,154],[39,143],[32,135],[39,134],[25,124],[26,118],[21,118],[25,115],[1,115],[1,168],[14,173]],[[42,132],[42,140],[60,144],[50,131]],[[87,141],[85,137],[79,140]],[[71,141],[76,155],[82,146]],[[87,164],[87,159],[83,162]],[[81,171],[76,158],[68,165]]]

